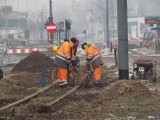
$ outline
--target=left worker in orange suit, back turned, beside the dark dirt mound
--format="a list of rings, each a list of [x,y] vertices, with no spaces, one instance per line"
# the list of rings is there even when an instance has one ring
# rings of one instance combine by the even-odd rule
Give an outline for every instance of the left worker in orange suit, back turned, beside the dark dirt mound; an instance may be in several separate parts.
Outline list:
[[[67,68],[71,64],[71,59],[74,57],[73,47],[76,40],[64,40],[61,47],[55,56],[54,64],[58,66],[59,87],[64,88],[68,85]]]

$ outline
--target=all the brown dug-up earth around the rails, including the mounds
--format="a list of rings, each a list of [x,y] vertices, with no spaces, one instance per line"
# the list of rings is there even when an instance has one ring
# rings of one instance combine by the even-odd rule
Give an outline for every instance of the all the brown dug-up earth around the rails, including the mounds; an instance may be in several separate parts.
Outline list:
[[[113,60],[114,62],[114,60]],[[53,60],[33,52],[14,66],[0,81],[0,107],[15,102],[40,89],[51,80]],[[160,82],[147,80],[118,80],[116,67],[103,66],[101,89],[81,86],[71,95],[50,108],[43,107],[44,99],[56,98],[66,91],[43,93],[36,99],[0,111],[0,120],[159,120]],[[155,88],[154,86],[158,86]],[[33,104],[29,104],[30,102]]]

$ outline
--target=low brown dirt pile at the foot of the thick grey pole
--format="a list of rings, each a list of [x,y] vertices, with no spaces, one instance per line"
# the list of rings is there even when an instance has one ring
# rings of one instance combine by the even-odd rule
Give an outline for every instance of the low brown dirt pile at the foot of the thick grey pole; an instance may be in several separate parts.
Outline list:
[[[151,91],[140,81],[124,80],[119,81],[104,93],[109,99],[132,98],[144,99],[152,96]]]

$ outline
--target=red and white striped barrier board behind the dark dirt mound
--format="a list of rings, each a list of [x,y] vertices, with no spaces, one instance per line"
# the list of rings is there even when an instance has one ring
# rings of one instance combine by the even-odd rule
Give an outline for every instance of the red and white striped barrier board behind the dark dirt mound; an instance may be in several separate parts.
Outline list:
[[[19,54],[19,53],[31,53],[33,51],[44,52],[48,51],[48,48],[21,48],[21,49],[8,49],[8,54]]]

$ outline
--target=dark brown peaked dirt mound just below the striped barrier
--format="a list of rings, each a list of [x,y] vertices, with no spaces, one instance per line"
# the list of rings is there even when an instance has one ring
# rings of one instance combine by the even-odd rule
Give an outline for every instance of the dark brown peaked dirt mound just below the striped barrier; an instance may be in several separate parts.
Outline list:
[[[12,69],[12,72],[31,72],[42,73],[44,72],[45,79],[51,79],[51,73],[53,69],[53,59],[46,56],[41,52],[32,52],[21,60]]]

